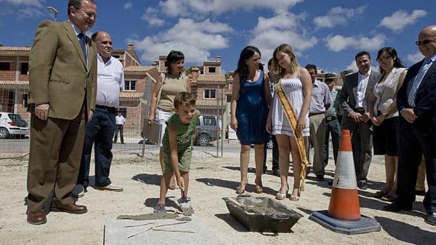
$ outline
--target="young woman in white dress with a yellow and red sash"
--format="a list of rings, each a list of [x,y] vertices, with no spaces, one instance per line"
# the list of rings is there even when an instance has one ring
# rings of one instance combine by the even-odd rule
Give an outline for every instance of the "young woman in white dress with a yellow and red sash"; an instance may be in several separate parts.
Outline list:
[[[287,44],[278,46],[273,53],[272,67],[275,74],[273,78],[274,93],[272,109],[268,115],[267,130],[277,139],[280,172],[280,190],[275,196],[282,200],[289,191],[287,182],[289,172],[289,153],[292,154],[294,185],[290,200],[300,199],[300,170],[302,159],[305,159],[304,147],[296,140],[301,136],[309,136],[309,106],[312,96],[312,80],[309,72],[298,64],[292,48]],[[280,93],[280,90],[282,93]],[[290,107],[289,107],[290,105]],[[286,113],[294,115],[291,124]],[[293,127],[292,125],[296,126]],[[300,141],[301,142],[301,141]],[[303,157],[302,157],[303,155]]]

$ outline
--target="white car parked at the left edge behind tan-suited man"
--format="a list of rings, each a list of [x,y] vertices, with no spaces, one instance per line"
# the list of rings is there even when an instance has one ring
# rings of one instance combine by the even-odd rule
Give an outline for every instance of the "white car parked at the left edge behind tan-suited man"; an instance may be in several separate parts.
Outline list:
[[[0,139],[7,139],[12,135],[27,135],[29,127],[20,115],[0,112]]]

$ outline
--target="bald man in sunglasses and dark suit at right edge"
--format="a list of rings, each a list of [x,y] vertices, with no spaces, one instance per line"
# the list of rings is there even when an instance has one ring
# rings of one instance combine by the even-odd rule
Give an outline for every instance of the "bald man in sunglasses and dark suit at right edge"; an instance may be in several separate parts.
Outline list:
[[[397,198],[383,207],[386,211],[412,210],[418,167],[424,153],[429,190],[424,197],[425,222],[436,225],[436,25],[419,36],[423,60],[412,65],[397,93],[399,157]]]

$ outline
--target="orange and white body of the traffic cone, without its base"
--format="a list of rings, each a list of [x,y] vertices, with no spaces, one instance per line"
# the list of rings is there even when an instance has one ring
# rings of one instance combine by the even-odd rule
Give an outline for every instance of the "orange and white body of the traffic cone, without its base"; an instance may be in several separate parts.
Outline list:
[[[349,130],[343,130],[341,135],[328,215],[341,220],[360,219],[359,195]]]

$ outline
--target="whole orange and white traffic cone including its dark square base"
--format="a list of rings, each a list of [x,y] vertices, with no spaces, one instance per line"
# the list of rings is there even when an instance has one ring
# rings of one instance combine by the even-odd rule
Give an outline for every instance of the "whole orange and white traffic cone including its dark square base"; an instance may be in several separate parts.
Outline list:
[[[377,220],[360,215],[349,130],[341,132],[328,211],[315,211],[309,216],[309,219],[334,232],[348,235],[382,230]]]

